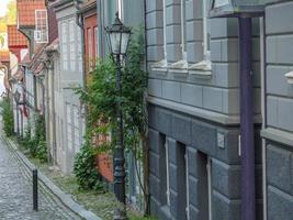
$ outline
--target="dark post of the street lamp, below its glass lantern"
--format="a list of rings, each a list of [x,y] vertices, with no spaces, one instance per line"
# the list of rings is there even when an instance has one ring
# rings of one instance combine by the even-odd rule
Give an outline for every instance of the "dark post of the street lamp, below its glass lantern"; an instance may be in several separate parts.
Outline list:
[[[123,117],[121,109],[122,85],[121,85],[121,58],[116,55],[116,89],[119,90],[120,100],[117,102],[117,130],[116,130],[116,147],[114,152],[114,193],[120,202],[125,205],[125,158],[123,147]],[[126,219],[125,210],[120,210],[115,220]]]

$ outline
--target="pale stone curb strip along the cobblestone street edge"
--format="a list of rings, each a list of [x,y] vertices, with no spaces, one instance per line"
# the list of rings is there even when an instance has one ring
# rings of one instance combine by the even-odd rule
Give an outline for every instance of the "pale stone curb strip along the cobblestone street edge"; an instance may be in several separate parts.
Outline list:
[[[19,160],[30,169],[31,172],[36,168],[22,152],[20,152],[16,145],[7,136],[2,135],[7,144],[13,150],[13,153],[19,157]],[[64,193],[59,187],[57,187],[52,180],[49,180],[41,170],[38,173],[38,180],[46,186],[52,194],[59,198],[61,204],[64,204],[72,212],[86,220],[102,220],[100,217],[95,216],[93,212],[86,210],[82,206],[74,201],[71,195]]]

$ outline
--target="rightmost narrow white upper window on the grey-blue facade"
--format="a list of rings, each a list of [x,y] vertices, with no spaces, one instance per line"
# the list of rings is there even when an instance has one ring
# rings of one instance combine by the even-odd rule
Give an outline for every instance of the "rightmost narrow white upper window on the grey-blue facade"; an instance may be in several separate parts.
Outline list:
[[[203,0],[203,56],[205,61],[211,59],[211,21],[209,10],[211,0]]]

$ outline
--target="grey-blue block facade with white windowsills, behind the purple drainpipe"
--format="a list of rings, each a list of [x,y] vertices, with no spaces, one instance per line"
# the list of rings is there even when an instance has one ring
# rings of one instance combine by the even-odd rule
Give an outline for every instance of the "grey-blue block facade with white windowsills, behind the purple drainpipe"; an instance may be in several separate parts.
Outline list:
[[[146,1],[150,207],[159,219],[240,219],[237,19],[205,0]],[[253,20],[257,219],[262,219],[259,22]]]

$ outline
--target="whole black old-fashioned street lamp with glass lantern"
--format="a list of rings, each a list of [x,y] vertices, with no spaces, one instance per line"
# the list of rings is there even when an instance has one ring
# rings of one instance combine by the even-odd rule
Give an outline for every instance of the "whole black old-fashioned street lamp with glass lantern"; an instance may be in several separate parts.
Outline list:
[[[117,130],[116,132],[116,144],[114,152],[114,194],[117,200],[125,205],[125,157],[124,157],[124,146],[123,146],[123,117],[121,109],[121,98],[122,98],[122,85],[121,85],[121,68],[122,61],[126,55],[127,46],[131,36],[131,29],[124,26],[116,12],[116,18],[114,23],[105,28],[108,43],[110,52],[116,65],[116,89],[119,91],[119,102],[116,107],[117,116]],[[117,213],[114,219],[126,219],[125,210],[123,213]]]

